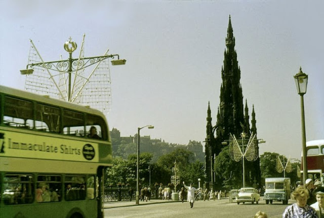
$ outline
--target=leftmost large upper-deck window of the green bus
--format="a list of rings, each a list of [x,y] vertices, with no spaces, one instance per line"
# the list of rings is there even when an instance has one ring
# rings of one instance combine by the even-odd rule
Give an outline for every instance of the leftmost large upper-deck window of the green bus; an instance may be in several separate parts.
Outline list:
[[[19,98],[5,97],[4,123],[8,126],[32,129],[32,102]]]

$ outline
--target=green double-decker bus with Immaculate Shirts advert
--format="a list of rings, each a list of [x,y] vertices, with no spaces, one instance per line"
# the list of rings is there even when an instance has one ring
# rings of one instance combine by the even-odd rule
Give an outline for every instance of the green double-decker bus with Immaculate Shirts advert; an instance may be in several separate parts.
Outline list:
[[[101,112],[0,86],[1,218],[104,217],[111,166]]]

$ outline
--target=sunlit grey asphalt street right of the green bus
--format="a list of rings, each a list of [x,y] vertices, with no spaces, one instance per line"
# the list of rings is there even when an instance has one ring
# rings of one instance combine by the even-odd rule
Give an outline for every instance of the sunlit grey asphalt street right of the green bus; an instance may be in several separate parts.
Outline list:
[[[289,204],[294,203],[290,200]],[[139,202],[136,205],[133,201],[121,201],[105,203],[105,217],[109,218],[136,218],[136,217],[254,217],[254,214],[261,210],[267,213],[268,217],[281,218],[282,212],[288,205],[283,205],[281,202],[273,202],[273,204],[265,204],[265,201],[260,200],[259,204],[239,204],[235,200],[229,203],[228,198],[215,201],[196,201],[193,208],[190,208],[188,202],[181,201],[166,201],[166,200],[151,200],[147,202]]]

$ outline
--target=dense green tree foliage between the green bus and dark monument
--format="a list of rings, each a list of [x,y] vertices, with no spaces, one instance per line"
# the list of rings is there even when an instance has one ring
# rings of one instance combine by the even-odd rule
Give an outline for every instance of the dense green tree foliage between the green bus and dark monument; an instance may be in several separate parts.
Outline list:
[[[194,156],[185,149],[176,149],[168,155],[161,156],[156,163],[151,163],[152,154],[142,153],[139,157],[139,181],[142,186],[151,186],[155,183],[168,185],[171,183],[173,167],[176,161],[180,182],[198,184],[204,183],[204,163],[194,161]],[[137,155],[129,155],[128,159],[121,157],[113,158],[113,166],[106,171],[106,186],[115,187],[118,184],[123,186],[136,187]],[[151,178],[151,179],[150,179]],[[178,187],[180,188],[180,186]]]

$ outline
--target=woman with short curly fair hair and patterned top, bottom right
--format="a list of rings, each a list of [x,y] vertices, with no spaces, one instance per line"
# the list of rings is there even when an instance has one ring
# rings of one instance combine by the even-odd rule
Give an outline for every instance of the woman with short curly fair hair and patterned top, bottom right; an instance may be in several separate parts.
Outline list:
[[[282,218],[318,218],[315,209],[307,204],[307,198],[309,197],[307,188],[299,186],[292,194],[296,199],[296,203],[286,207],[284,213],[282,213]]]

